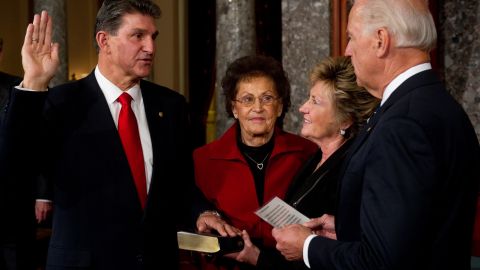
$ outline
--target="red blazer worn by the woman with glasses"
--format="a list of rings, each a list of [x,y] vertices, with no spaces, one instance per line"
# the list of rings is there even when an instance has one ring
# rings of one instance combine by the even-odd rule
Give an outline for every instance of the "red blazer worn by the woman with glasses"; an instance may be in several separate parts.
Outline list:
[[[293,177],[318,146],[300,136],[275,129],[275,145],[265,172],[264,200],[283,199]],[[255,211],[258,204],[255,183],[242,153],[237,147],[237,124],[218,140],[194,151],[195,181],[205,197],[239,229],[250,237],[261,238],[266,246],[275,246],[272,227]]]

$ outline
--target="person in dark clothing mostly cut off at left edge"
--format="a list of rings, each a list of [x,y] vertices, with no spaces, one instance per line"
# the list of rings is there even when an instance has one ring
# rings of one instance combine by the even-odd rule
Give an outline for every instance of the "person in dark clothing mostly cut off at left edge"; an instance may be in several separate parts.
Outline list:
[[[0,62],[3,60],[0,38]],[[0,71],[0,122],[2,122],[12,87],[22,78]],[[0,269],[35,269],[36,224],[51,212],[50,186],[43,177],[6,181],[0,178]],[[37,200],[35,200],[37,198]],[[18,262],[17,262],[18,261]]]

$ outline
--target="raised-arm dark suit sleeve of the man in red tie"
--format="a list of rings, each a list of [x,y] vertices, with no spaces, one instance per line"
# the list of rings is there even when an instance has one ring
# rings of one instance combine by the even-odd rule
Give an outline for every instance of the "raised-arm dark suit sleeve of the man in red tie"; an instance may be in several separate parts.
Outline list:
[[[0,211],[4,217],[18,217],[1,222],[2,232],[19,231],[33,216],[30,202],[43,168],[40,142],[45,97],[46,93],[13,90],[0,124]]]

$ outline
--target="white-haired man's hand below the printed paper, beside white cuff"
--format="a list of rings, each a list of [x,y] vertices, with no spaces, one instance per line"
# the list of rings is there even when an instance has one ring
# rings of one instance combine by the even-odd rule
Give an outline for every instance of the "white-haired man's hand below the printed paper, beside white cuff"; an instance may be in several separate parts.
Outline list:
[[[277,241],[276,248],[289,261],[303,258],[303,243],[312,230],[300,224],[292,224],[272,230],[273,238]]]

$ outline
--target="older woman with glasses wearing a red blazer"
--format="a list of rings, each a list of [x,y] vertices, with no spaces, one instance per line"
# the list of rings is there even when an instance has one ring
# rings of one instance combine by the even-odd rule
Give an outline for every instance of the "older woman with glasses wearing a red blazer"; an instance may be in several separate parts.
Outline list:
[[[222,88],[226,111],[236,121],[221,138],[194,152],[197,186],[220,214],[200,214],[197,228],[229,235],[246,230],[257,246],[274,247],[272,227],[254,212],[275,196],[284,197],[317,147],[278,127],[290,106],[290,84],[273,58],[237,59]],[[216,258],[204,269],[239,269],[235,257]]]

